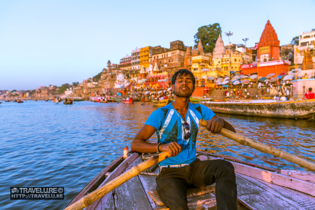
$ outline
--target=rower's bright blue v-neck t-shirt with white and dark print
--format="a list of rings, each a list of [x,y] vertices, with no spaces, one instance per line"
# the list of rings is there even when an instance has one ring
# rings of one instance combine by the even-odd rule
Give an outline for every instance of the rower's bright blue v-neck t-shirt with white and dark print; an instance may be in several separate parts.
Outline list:
[[[182,150],[177,156],[169,157],[160,162],[160,166],[189,164],[193,162],[196,159],[196,139],[200,126],[199,120],[210,120],[213,116],[215,116],[215,113],[208,107],[192,103],[189,103],[185,121],[171,103],[153,111],[144,124],[157,129],[158,143],[167,144],[176,141],[181,145]],[[190,131],[183,128],[182,124],[184,122],[189,124]],[[187,132],[190,132],[191,135],[189,139],[185,140],[184,136]]]

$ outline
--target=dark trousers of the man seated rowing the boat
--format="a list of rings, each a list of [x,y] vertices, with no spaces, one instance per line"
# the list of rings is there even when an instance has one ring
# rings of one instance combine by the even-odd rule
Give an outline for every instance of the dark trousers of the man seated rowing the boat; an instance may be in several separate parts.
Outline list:
[[[237,209],[237,189],[232,163],[225,160],[200,161],[179,168],[163,167],[156,178],[157,193],[169,209],[188,209],[186,189],[215,183],[217,209]]]

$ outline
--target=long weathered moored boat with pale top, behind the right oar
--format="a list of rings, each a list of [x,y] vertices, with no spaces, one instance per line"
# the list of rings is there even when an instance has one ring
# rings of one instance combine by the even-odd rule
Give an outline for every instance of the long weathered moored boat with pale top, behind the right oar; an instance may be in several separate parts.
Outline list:
[[[311,118],[315,115],[315,99],[276,101],[205,102],[213,112],[277,118]]]

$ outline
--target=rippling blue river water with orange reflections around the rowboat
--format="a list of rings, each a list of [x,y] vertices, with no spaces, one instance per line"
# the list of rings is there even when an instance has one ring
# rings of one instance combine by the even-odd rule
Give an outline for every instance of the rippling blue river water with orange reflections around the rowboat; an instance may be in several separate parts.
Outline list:
[[[0,104],[0,208],[63,209],[142,127],[152,103],[73,105],[52,101]],[[238,133],[314,162],[313,120],[218,114]],[[152,139],[157,139],[156,134]],[[201,128],[197,149],[276,169],[305,170],[294,163],[238,145]],[[61,186],[64,200],[10,200],[10,186]]]

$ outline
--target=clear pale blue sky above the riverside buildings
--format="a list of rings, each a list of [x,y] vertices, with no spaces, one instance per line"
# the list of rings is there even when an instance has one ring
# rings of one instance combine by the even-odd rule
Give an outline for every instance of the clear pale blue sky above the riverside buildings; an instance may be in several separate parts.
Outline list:
[[[136,47],[194,44],[220,23],[231,43],[259,42],[268,20],[280,45],[314,25],[315,1],[0,0],[0,90],[82,82]]]

